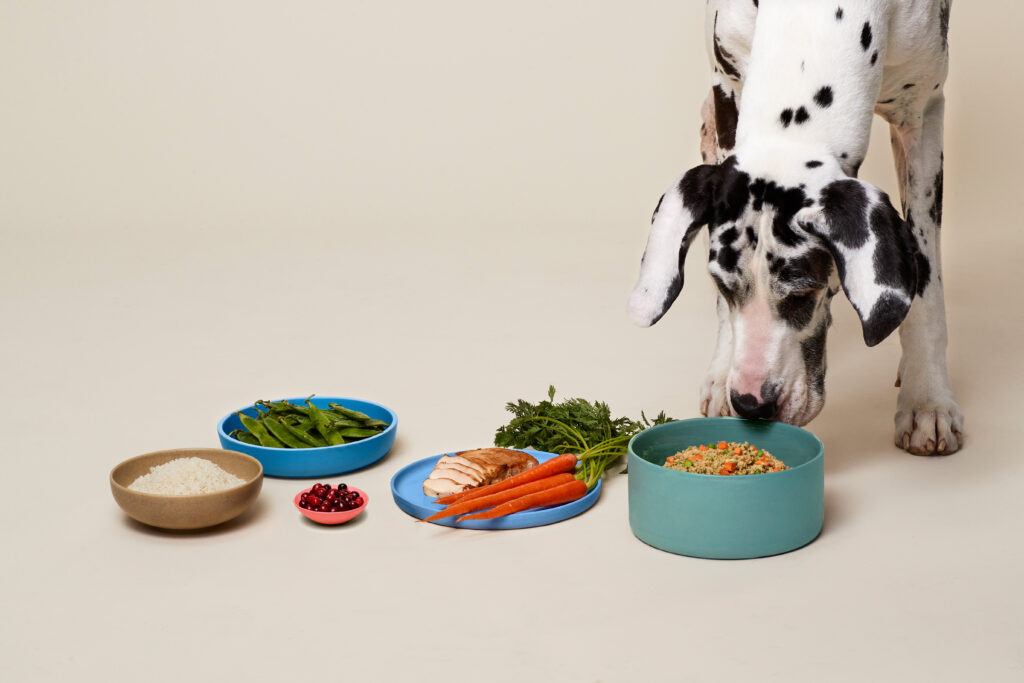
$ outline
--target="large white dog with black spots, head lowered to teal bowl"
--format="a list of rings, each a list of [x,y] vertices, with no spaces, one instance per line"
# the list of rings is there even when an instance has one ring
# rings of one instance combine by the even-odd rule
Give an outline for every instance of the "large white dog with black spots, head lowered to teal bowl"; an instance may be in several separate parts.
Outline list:
[[[844,291],[873,346],[897,329],[896,445],[961,447],[939,260],[950,0],[710,0],[701,157],[654,209],[635,323],[665,315],[703,226],[718,288],[705,415],[804,425],[824,403]],[[872,113],[890,124],[902,216],[857,179]]]

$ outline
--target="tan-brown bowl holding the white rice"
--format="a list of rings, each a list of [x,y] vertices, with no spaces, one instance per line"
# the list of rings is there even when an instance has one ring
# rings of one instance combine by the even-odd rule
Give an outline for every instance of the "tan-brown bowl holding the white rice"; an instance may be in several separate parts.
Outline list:
[[[245,483],[234,488],[199,496],[161,496],[130,490],[128,485],[151,467],[175,458],[204,458]],[[255,458],[220,449],[158,451],[126,460],[111,470],[114,500],[132,519],[160,528],[191,529],[220,524],[238,517],[253,504],[263,485],[263,466]]]

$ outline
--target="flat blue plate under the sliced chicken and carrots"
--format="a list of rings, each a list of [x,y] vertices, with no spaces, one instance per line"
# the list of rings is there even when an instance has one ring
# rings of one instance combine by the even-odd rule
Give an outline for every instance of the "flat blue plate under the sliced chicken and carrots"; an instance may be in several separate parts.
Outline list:
[[[553,453],[543,451],[530,451],[529,449],[519,449],[524,453],[537,458],[539,463],[546,462],[555,457]],[[412,465],[401,468],[391,477],[391,495],[394,502],[401,510],[417,519],[424,519],[444,509],[443,505],[434,503],[434,499],[423,493],[423,481],[430,476],[434,465],[442,456],[451,456],[453,453],[441,456],[431,456],[418,460]],[[575,517],[581,512],[590,509],[601,495],[601,482],[598,481],[586,496],[579,501],[572,501],[564,505],[556,505],[550,508],[540,508],[538,510],[524,510],[505,517],[496,519],[470,519],[456,523],[455,517],[437,519],[431,523],[441,526],[455,526],[456,528],[476,528],[476,529],[499,529],[499,528],[526,528],[528,526],[543,526],[544,524],[554,524],[569,517]]]

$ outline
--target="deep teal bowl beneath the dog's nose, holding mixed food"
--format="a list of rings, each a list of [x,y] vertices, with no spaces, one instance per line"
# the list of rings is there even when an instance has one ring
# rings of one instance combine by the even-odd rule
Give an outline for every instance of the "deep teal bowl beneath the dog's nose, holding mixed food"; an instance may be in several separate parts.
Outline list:
[[[792,469],[718,476],[664,467],[700,443],[748,441]],[[647,545],[678,555],[745,559],[813,541],[824,519],[824,446],[780,422],[698,418],[640,432],[629,446],[630,526]]]

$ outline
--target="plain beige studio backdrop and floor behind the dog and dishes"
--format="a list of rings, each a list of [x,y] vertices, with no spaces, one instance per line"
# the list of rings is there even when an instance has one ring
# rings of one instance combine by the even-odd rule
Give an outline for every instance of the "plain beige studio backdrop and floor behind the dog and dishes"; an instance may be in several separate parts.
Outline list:
[[[780,557],[630,532],[626,477],[512,532],[414,524],[404,464],[490,442],[504,403],[696,413],[703,257],[650,330],[625,304],[658,195],[698,162],[702,3],[0,4],[5,681],[1011,681],[1024,676],[1024,56],[958,2],[944,250],[966,450],[891,444],[898,343],[837,300],[826,519]],[[895,194],[876,122],[862,177]],[[337,528],[268,479],[171,536],[109,470],[214,445],[259,397],[377,399],[391,455]],[[310,674],[316,675],[316,674]]]

